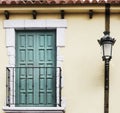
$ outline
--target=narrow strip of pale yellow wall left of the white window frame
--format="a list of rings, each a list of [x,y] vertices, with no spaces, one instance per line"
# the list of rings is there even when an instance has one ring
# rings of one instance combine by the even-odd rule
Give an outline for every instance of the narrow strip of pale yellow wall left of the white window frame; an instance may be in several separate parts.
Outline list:
[[[3,29],[3,16],[0,15],[0,113],[6,101],[6,66],[8,64],[7,49],[5,45],[5,31]]]

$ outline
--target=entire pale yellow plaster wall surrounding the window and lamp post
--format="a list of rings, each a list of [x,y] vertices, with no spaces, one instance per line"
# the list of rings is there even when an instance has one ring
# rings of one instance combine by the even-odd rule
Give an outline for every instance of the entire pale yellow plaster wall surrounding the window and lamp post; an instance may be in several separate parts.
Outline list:
[[[60,15],[38,15],[37,19],[59,19]],[[10,19],[32,19],[31,15],[11,15]],[[103,36],[104,14],[89,19],[87,14],[66,14],[67,29],[62,65],[66,113],[104,112],[104,62],[97,39]],[[0,15],[0,113],[4,113],[6,66],[8,65],[4,16]],[[110,113],[119,113],[120,105],[120,16],[111,15],[111,36],[116,38],[110,62]]]

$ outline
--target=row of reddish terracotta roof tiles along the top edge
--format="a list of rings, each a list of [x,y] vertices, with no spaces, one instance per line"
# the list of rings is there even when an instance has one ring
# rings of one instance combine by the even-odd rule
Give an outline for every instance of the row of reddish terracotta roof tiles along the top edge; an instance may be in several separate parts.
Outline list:
[[[34,4],[119,4],[120,0],[0,0],[0,5],[34,5]]]

